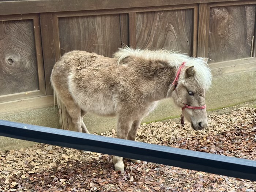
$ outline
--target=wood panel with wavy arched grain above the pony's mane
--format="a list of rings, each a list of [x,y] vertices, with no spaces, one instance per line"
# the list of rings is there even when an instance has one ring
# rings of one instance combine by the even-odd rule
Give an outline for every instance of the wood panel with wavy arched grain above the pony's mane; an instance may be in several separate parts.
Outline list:
[[[136,47],[175,49],[192,55],[193,9],[136,14]]]

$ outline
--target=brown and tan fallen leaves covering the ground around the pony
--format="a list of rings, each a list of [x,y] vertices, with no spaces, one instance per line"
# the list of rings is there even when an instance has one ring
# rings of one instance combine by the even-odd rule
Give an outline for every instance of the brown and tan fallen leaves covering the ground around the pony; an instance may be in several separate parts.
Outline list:
[[[256,160],[256,109],[234,108],[208,115],[207,128],[194,131],[173,120],[142,124],[137,141]],[[116,131],[101,133],[116,137]],[[0,151],[3,192],[255,192],[256,182],[195,170],[124,159],[125,173],[114,171],[112,156],[34,144]]]

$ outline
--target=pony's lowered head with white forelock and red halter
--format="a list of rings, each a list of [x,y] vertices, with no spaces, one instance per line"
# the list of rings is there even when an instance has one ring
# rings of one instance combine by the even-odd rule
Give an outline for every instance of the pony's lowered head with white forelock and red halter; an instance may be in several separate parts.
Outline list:
[[[171,97],[182,108],[194,130],[207,126],[205,92],[211,86],[211,71],[206,58],[193,58],[182,63],[170,87]]]

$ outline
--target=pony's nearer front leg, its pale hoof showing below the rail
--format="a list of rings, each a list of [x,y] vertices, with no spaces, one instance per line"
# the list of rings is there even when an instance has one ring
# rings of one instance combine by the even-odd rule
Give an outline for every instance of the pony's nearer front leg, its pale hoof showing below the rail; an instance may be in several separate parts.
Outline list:
[[[117,121],[117,138],[127,139],[129,130],[131,129],[132,120],[127,117],[118,118]],[[123,157],[113,156],[113,163],[116,171],[124,172]]]

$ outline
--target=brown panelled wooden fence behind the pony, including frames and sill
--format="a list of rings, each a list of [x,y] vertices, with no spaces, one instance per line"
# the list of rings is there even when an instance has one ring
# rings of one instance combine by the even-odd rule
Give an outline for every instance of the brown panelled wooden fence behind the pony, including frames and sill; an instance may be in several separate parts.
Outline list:
[[[214,77],[255,71],[255,10],[256,0],[1,1],[0,112],[53,105],[52,67],[74,49],[176,49],[212,59]]]

